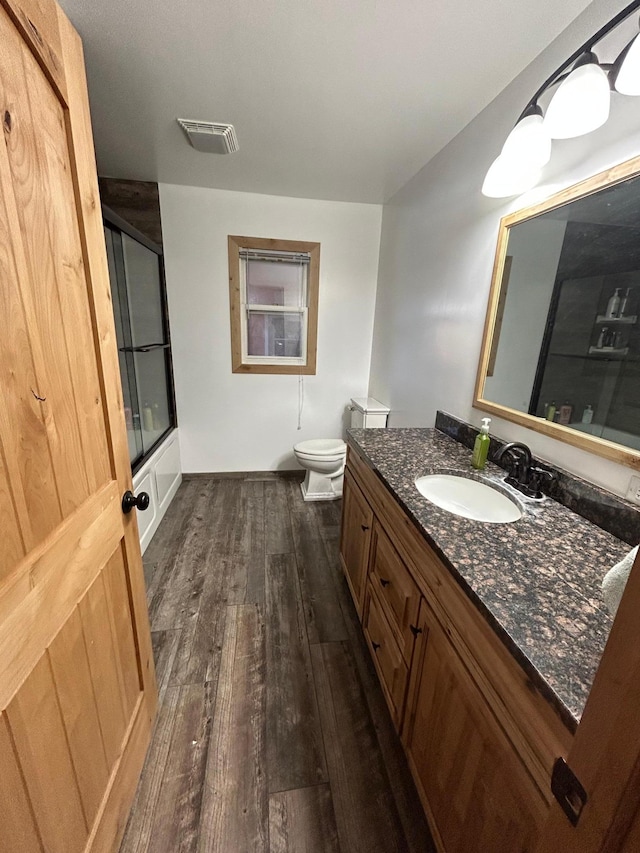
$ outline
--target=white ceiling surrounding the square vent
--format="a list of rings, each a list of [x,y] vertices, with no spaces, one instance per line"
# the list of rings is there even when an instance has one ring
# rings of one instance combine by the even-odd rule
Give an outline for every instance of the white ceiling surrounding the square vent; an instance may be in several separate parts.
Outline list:
[[[589,5],[60,2],[84,40],[100,174],[374,203]],[[234,124],[240,151],[195,151],[177,117]]]

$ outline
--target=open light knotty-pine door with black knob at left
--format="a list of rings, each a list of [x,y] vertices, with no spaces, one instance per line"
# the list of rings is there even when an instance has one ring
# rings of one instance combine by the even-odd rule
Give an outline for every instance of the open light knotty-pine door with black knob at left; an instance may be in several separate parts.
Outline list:
[[[110,851],[156,697],[82,48],[0,44],[0,850]]]

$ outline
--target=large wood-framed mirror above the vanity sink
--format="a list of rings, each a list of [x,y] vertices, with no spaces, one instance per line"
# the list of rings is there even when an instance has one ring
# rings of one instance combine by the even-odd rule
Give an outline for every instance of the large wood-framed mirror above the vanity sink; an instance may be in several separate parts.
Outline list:
[[[474,406],[640,469],[640,157],[503,217]]]

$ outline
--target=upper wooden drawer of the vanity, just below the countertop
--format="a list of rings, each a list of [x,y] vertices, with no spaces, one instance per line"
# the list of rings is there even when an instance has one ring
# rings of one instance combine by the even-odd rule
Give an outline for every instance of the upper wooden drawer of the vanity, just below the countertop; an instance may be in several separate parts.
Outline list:
[[[420,590],[378,523],[374,523],[373,557],[369,577],[400,653],[409,665],[418,624]]]

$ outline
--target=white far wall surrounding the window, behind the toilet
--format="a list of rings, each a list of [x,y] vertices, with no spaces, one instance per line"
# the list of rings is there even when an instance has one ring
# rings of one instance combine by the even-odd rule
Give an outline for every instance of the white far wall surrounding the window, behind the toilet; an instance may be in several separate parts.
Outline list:
[[[292,447],[343,434],[366,396],[382,208],[160,184],[183,470],[291,469]],[[321,243],[318,365],[304,377],[231,372],[227,235]]]

